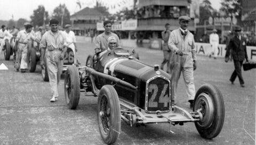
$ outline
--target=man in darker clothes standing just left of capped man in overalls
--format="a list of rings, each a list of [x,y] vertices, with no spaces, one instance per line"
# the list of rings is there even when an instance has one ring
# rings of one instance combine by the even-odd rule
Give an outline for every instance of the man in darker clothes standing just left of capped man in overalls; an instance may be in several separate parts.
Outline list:
[[[161,70],[164,70],[164,65],[167,63],[167,73],[170,73],[170,57],[171,57],[171,49],[168,46],[168,40],[169,40],[169,36],[170,36],[170,24],[166,23],[165,24],[165,31],[162,32],[162,39],[164,40],[164,44],[163,44],[163,53],[164,53],[164,59],[163,62],[161,64]]]

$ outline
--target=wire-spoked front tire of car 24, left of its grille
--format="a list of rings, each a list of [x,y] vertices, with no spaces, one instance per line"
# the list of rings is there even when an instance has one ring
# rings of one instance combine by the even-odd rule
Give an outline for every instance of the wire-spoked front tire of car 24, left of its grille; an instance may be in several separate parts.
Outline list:
[[[121,130],[121,112],[118,95],[113,86],[101,88],[98,98],[98,125],[107,144],[115,143]]]

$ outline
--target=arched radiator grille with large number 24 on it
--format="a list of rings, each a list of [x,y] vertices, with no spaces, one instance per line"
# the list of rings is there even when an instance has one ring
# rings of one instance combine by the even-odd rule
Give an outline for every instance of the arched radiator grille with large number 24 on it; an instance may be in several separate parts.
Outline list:
[[[162,76],[151,78],[146,84],[145,111],[147,113],[170,110],[170,81]]]

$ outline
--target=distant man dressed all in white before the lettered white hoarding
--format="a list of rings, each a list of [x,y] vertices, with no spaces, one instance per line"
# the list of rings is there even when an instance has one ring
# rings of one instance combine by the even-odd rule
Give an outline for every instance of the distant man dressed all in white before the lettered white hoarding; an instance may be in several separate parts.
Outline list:
[[[212,53],[214,54],[214,59],[218,56],[218,46],[219,46],[219,35],[217,34],[217,30],[213,29],[210,35],[210,44],[212,47]],[[211,57],[211,54],[210,54]]]

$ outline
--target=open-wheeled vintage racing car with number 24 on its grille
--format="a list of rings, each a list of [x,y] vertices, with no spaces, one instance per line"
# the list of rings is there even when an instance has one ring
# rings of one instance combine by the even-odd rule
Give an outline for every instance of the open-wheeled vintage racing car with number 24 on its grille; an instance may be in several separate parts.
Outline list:
[[[125,49],[114,49],[97,59],[87,57],[86,66],[69,66],[65,99],[75,109],[80,92],[98,96],[98,125],[103,141],[114,143],[121,120],[128,124],[194,122],[205,139],[216,137],[223,126],[225,107],[220,90],[209,83],[196,93],[193,111],[173,105],[171,76],[159,66],[147,65]],[[172,131],[171,131],[172,132]]]

